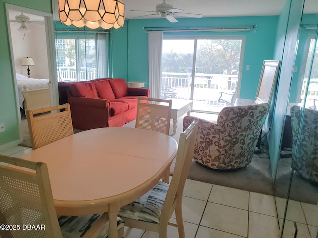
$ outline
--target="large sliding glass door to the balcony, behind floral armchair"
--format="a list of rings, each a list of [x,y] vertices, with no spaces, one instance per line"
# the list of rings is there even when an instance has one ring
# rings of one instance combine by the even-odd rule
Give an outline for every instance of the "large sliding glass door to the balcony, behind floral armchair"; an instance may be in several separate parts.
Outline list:
[[[191,99],[193,111],[220,112],[239,94],[243,48],[243,38],[164,38],[162,98]]]

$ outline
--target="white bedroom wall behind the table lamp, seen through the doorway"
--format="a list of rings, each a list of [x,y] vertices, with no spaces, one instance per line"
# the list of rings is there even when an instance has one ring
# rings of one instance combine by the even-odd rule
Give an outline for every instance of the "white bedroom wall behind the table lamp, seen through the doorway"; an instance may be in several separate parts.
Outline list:
[[[20,23],[10,23],[15,70],[17,73],[27,75],[27,66],[22,66],[23,57],[32,57],[34,66],[30,66],[31,78],[49,78],[48,55],[46,48],[45,27],[38,24],[27,23],[31,32],[23,34],[17,29]]]

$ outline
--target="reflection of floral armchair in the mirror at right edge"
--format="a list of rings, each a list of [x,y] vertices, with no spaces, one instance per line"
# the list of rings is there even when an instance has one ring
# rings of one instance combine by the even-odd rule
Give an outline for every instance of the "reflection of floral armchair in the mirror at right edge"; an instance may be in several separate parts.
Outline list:
[[[303,108],[299,106],[293,106],[290,109],[294,170],[303,178],[318,184],[318,111],[305,108],[301,129],[299,129],[302,112]]]

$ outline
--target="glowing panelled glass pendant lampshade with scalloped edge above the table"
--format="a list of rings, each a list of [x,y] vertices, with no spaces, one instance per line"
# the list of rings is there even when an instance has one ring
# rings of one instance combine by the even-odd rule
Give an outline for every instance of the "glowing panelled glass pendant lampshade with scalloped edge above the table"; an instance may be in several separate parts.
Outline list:
[[[122,0],[58,0],[60,20],[67,26],[118,29],[125,22]]]

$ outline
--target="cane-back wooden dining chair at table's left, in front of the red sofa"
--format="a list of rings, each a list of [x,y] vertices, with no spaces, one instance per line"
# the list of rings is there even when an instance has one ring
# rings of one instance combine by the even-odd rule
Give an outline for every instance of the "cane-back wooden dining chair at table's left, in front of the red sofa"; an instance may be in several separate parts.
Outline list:
[[[71,111],[68,103],[28,110],[26,115],[33,150],[73,135]]]

